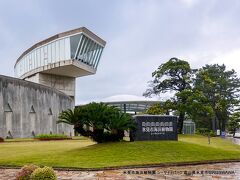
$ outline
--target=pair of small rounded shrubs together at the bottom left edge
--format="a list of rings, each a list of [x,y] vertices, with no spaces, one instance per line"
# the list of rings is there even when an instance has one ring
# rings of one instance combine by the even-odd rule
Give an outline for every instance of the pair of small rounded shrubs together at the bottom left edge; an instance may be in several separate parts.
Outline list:
[[[40,168],[36,165],[25,165],[16,175],[16,180],[56,180],[57,176],[51,167]]]

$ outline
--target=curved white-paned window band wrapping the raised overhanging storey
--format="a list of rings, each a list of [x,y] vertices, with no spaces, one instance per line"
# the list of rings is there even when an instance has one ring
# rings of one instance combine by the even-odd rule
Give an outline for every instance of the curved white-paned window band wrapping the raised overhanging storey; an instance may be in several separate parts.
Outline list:
[[[57,39],[24,55],[15,66],[15,76],[20,77],[41,66],[70,59],[78,60],[96,69],[103,48],[83,33]]]

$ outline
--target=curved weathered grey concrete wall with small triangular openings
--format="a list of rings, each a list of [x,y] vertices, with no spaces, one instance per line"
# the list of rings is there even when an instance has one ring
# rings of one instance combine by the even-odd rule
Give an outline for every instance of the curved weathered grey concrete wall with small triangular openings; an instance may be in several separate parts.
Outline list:
[[[58,90],[0,75],[0,137],[73,134],[72,126],[56,124],[59,113],[73,107],[73,100]]]

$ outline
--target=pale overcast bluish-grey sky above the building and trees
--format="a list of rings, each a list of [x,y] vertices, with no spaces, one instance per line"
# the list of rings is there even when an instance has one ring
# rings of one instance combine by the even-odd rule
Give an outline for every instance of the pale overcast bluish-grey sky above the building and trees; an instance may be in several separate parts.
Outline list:
[[[14,76],[36,42],[82,26],[107,45],[97,73],[77,79],[77,104],[142,96],[171,57],[240,74],[239,0],[0,0],[0,74]]]

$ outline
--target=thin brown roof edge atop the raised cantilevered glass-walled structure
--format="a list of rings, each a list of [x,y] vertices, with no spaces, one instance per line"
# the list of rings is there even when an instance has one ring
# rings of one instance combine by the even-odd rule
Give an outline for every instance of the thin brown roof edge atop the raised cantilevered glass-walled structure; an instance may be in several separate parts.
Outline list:
[[[42,40],[36,44],[34,44],[33,46],[31,46],[30,48],[28,48],[26,51],[24,51],[21,56],[17,59],[15,65],[14,65],[14,68],[15,66],[17,65],[17,63],[22,59],[23,56],[25,56],[26,54],[28,54],[29,52],[31,52],[33,49],[36,49],[37,47],[39,46],[42,46],[44,44],[47,44],[51,41],[54,41],[56,39],[59,39],[59,38],[62,38],[62,37],[65,37],[65,36],[69,36],[69,35],[72,35],[72,34],[77,34],[77,33],[85,33],[86,35],[90,36],[91,38],[93,38],[94,40],[96,40],[97,42],[99,42],[101,45],[105,46],[106,45],[106,41],[104,41],[102,38],[100,38],[99,36],[97,36],[96,34],[94,34],[92,31],[90,31],[89,29],[87,29],[86,27],[80,27],[80,28],[77,28],[77,29],[73,29],[73,30],[70,30],[70,31],[65,31],[65,32],[62,32],[62,33],[59,33],[59,34],[56,34],[54,36],[51,36],[45,40]]]

